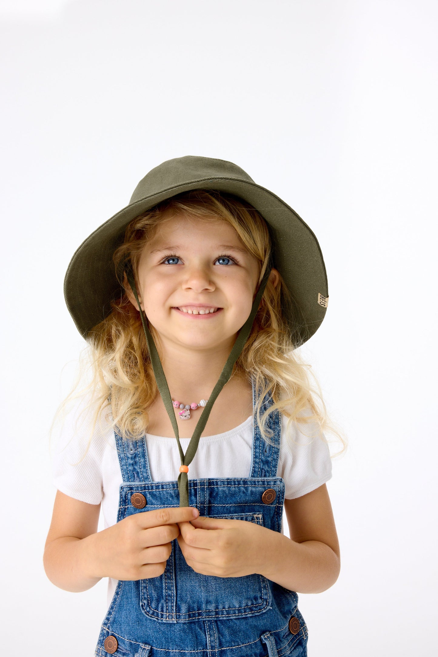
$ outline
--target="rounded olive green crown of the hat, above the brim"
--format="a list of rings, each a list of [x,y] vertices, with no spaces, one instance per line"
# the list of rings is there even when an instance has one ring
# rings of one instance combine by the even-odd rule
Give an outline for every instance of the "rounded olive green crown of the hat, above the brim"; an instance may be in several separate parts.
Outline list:
[[[215,178],[254,182],[246,171],[227,160],[186,155],[183,158],[166,160],[146,173],[133,191],[129,203],[135,203],[146,196],[162,194],[167,188],[175,188],[178,185],[186,187],[187,183]]]

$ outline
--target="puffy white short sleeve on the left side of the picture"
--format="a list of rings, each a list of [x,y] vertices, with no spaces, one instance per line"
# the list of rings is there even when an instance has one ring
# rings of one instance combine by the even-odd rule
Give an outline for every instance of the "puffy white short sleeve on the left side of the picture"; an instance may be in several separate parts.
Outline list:
[[[51,447],[53,484],[62,493],[81,502],[102,501],[102,463],[108,445],[104,412],[93,423],[96,405],[89,396],[80,397],[58,422]],[[108,411],[107,411],[108,412]]]

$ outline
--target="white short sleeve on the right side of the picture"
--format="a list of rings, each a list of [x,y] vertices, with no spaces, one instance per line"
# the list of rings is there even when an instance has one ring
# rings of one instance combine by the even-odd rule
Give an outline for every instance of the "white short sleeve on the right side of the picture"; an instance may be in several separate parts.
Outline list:
[[[282,415],[282,435],[277,476],[284,479],[286,499],[301,497],[332,478],[330,450],[324,434],[314,424],[292,422]],[[322,436],[322,438],[321,438]]]

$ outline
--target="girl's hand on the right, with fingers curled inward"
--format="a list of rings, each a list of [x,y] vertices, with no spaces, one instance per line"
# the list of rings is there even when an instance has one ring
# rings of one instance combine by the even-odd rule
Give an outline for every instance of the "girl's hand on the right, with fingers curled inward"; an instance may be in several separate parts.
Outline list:
[[[178,525],[179,547],[195,572],[217,577],[261,574],[271,530],[248,520],[206,516]]]

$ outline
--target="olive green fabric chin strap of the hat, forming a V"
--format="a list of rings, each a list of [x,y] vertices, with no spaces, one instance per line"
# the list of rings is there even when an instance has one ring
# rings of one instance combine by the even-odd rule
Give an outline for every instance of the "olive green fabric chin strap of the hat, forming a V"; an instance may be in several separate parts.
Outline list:
[[[208,402],[206,403],[206,406],[204,407],[204,410],[202,411],[200,415],[200,419],[198,420],[198,424],[196,424],[196,427],[194,429],[192,438],[190,439],[190,443],[188,443],[188,447],[186,449],[186,453],[184,454],[183,448],[181,447],[181,443],[179,442],[179,433],[178,433],[178,424],[177,424],[177,419],[175,417],[175,411],[173,409],[173,404],[172,404],[172,398],[171,394],[169,392],[169,386],[167,386],[167,380],[164,376],[164,371],[162,368],[162,364],[160,361],[160,356],[158,355],[158,351],[156,350],[156,346],[154,343],[154,338],[152,338],[152,335],[150,334],[150,330],[148,329],[147,323],[146,323],[146,315],[141,309],[140,303],[139,303],[139,297],[137,295],[137,289],[135,288],[135,281],[133,277],[133,273],[131,268],[129,267],[126,270],[126,275],[127,275],[127,280],[129,282],[129,285],[131,286],[131,289],[133,291],[133,294],[135,296],[135,300],[137,301],[137,305],[139,306],[139,311],[140,311],[140,316],[141,316],[141,321],[143,325],[143,330],[144,330],[144,335],[146,336],[146,342],[148,344],[148,350],[149,350],[149,355],[150,355],[150,361],[152,363],[152,369],[154,371],[154,375],[156,378],[158,390],[160,391],[160,395],[162,396],[162,399],[164,401],[164,407],[167,411],[167,415],[169,415],[170,421],[173,426],[173,431],[175,432],[175,438],[177,439],[178,443],[178,448],[179,448],[179,455],[181,457],[181,465],[182,466],[188,466],[189,463],[192,462],[194,459],[194,455],[196,454],[196,450],[198,449],[199,445],[199,440],[201,437],[202,432],[204,431],[204,428],[206,426],[211,407],[213,406],[213,403],[215,403],[217,396],[219,395],[219,392],[221,392],[223,386],[229,381],[229,378],[232,373],[232,368],[234,367],[234,364],[236,363],[238,357],[242,353],[242,350],[244,348],[246,340],[248,340],[248,336],[250,335],[253,321],[255,318],[255,314],[257,313],[257,310],[259,309],[259,304],[261,302],[261,297],[263,295],[263,292],[265,291],[265,287],[267,285],[268,279],[269,279],[269,274],[271,273],[271,267],[267,267],[265,271],[265,275],[263,276],[263,279],[260,283],[259,290],[257,292],[257,295],[255,296],[255,299],[252,304],[252,309],[250,312],[250,316],[240,328],[240,332],[238,334],[238,338],[236,339],[236,342],[234,342],[234,346],[232,347],[232,350],[230,351],[230,355],[227,359],[227,363],[225,363],[225,366],[221,372],[221,376],[219,376],[219,380],[217,381],[217,384],[213,388],[213,391],[211,392],[211,395],[208,397]],[[179,506],[180,507],[188,507],[188,474],[187,472],[180,472],[179,477],[178,477],[178,490],[179,490]]]

